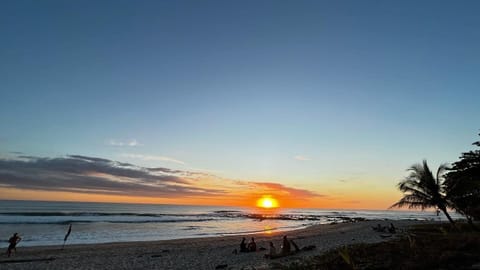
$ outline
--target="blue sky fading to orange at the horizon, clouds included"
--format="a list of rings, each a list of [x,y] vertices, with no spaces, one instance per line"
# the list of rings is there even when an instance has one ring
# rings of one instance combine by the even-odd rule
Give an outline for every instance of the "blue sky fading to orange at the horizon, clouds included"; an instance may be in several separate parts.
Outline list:
[[[478,1],[2,1],[0,199],[385,209],[480,130]]]

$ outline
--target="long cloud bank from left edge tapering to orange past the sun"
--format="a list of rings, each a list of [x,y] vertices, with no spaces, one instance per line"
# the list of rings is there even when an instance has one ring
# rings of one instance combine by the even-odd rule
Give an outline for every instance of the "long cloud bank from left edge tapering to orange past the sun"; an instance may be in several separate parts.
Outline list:
[[[0,158],[0,187],[155,198],[249,198],[272,194],[281,198],[323,197],[278,183],[237,181],[209,173],[142,167],[82,155],[46,158]]]

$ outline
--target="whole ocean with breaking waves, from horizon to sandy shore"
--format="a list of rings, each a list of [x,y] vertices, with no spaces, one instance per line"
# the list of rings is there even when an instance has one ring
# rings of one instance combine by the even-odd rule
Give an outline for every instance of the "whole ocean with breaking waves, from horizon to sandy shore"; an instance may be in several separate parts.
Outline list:
[[[452,213],[454,218],[461,218]],[[21,246],[152,241],[288,231],[352,219],[446,220],[434,211],[242,208],[0,200],[0,239],[18,232]],[[388,223],[385,223],[387,225]]]

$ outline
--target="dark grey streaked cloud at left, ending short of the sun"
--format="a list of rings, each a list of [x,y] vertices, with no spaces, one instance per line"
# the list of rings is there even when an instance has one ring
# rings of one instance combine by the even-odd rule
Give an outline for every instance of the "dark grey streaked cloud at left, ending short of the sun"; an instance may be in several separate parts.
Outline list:
[[[185,175],[191,173],[79,155],[0,159],[0,185],[19,189],[151,197],[225,193],[219,189],[194,186]]]

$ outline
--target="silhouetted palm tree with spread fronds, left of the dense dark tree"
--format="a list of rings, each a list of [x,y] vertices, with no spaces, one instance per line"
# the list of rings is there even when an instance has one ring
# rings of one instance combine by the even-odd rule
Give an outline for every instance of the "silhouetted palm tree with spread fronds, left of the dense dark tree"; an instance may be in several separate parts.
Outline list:
[[[414,164],[408,169],[410,175],[398,183],[398,189],[404,193],[403,198],[390,208],[408,206],[424,210],[436,207],[442,210],[450,223],[455,224],[447,212],[448,203],[445,199],[444,174],[447,168],[446,164],[440,165],[437,177],[434,177],[426,160],[422,164]]]

